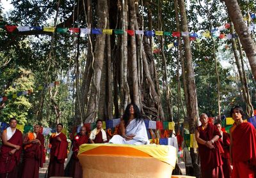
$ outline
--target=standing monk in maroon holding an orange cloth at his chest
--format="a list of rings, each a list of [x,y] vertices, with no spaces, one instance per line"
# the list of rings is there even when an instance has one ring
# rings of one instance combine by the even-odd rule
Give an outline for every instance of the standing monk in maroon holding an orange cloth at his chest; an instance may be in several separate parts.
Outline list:
[[[34,132],[29,132],[24,138],[22,178],[38,178],[39,167],[44,165],[44,135],[39,132],[40,127],[36,124]]]

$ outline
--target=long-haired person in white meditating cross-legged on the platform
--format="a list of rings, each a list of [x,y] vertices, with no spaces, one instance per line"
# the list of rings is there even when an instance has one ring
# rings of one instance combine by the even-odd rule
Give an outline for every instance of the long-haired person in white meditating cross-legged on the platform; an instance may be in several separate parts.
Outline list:
[[[123,118],[120,122],[120,130],[122,137],[120,135],[114,135],[109,140],[110,144],[149,144],[147,129],[141,118],[140,109],[133,103],[130,103],[125,108]]]

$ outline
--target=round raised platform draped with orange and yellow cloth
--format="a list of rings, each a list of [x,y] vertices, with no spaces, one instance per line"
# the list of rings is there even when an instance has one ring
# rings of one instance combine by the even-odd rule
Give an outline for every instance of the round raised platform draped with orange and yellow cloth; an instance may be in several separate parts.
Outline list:
[[[170,178],[177,161],[167,145],[83,144],[79,150],[84,178]]]

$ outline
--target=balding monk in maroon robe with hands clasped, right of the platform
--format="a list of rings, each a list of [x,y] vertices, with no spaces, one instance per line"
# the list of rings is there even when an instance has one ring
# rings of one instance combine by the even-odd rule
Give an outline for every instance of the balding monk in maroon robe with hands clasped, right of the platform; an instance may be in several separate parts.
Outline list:
[[[202,177],[223,178],[221,153],[224,151],[218,141],[221,137],[220,131],[208,122],[206,114],[200,115],[200,121],[202,125],[196,128],[195,137],[198,143]]]

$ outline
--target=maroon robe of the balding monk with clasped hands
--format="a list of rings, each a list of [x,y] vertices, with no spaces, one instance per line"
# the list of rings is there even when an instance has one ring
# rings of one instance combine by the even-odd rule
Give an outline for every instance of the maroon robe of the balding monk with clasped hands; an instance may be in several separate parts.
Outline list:
[[[205,141],[212,140],[216,135],[221,137],[220,131],[211,123],[208,123],[204,130],[202,126],[196,129],[199,131],[199,138]],[[206,145],[198,143],[202,177],[223,177],[223,162],[221,160],[223,149],[219,141],[214,142],[213,145],[215,148],[209,149]]]

